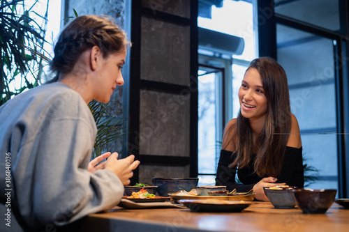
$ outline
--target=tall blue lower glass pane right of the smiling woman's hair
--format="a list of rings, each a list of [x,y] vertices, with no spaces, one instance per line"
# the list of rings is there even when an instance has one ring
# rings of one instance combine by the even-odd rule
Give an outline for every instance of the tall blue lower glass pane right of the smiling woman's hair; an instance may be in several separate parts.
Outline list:
[[[309,187],[338,188],[333,41],[282,25],[277,25],[276,36],[291,111],[301,131],[305,176],[318,176]]]

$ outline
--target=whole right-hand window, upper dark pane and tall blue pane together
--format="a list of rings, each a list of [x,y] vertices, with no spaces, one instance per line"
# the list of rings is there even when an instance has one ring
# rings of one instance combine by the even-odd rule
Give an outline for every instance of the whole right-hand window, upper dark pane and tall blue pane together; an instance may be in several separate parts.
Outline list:
[[[318,173],[305,170],[305,176],[317,178],[313,182],[306,177],[305,185],[313,189],[324,186],[338,189],[339,127],[334,59],[339,57],[336,54],[337,40],[328,33],[322,33],[320,28],[316,33],[310,33],[309,27],[315,24],[340,31],[339,2],[320,0],[299,3],[276,3],[276,13],[299,20],[296,26],[288,26],[287,22],[276,24],[278,61],[288,76],[291,111],[299,123],[304,164],[318,170]],[[306,26],[303,21],[306,21]]]

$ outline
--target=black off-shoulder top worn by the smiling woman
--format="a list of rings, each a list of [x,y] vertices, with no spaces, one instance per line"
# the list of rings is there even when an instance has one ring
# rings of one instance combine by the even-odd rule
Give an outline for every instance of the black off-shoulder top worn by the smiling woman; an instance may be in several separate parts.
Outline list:
[[[235,153],[233,154],[228,150],[221,150],[216,173],[216,185],[225,185],[229,191],[236,188],[237,192],[248,192],[252,190],[253,186],[262,180],[262,178],[267,177],[260,177],[253,173],[253,162],[251,162],[248,167],[242,169],[230,168],[229,164],[231,164],[235,158]],[[241,183],[235,181],[236,173]],[[286,185],[297,186],[299,188],[304,187],[302,147],[286,147],[281,172],[276,178],[278,178],[276,183],[286,183]]]

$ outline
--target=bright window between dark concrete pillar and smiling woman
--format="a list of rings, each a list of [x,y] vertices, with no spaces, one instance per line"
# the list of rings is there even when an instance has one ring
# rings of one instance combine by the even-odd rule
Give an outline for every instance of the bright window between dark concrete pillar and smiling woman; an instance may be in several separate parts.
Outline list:
[[[256,56],[253,6],[251,1],[225,0],[221,6],[210,6],[205,17],[198,17],[198,185],[215,184],[223,130],[237,116],[237,92]],[[202,32],[205,41],[200,37],[202,29],[209,30]],[[226,47],[215,44],[220,37],[226,38]]]

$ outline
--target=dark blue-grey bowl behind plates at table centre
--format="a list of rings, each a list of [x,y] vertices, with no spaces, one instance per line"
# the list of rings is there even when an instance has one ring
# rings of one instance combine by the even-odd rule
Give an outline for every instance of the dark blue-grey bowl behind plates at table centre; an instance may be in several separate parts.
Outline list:
[[[153,185],[158,186],[159,196],[168,196],[180,190],[189,192],[198,185],[199,178],[153,178]]]

